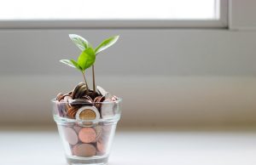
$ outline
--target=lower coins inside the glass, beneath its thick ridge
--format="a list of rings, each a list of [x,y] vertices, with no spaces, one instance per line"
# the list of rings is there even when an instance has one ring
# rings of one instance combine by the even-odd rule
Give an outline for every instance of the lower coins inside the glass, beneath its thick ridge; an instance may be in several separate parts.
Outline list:
[[[108,151],[112,125],[80,127],[79,125],[61,126],[63,138],[70,146],[73,156],[102,156]]]

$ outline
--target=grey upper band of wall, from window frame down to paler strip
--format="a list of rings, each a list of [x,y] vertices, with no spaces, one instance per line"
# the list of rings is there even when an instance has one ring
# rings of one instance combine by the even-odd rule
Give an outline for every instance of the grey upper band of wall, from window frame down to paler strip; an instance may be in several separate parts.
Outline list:
[[[254,76],[256,71],[254,31],[1,30],[0,74],[76,74],[59,63],[79,54],[68,33],[94,45],[105,37],[121,36],[97,58],[99,75]]]

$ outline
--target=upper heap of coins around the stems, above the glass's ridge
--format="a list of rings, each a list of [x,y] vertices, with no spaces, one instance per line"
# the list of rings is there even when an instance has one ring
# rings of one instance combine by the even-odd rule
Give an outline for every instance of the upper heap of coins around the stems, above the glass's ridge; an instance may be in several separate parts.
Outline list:
[[[97,86],[96,92],[79,83],[68,94],[57,94],[56,105],[60,117],[77,120],[95,120],[113,117],[118,110],[119,100],[102,87]]]

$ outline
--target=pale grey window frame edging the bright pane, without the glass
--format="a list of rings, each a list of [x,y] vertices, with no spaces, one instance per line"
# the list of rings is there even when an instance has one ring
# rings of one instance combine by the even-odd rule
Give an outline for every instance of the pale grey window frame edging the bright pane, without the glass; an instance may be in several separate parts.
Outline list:
[[[229,0],[218,3],[218,20],[0,20],[0,28],[228,28]]]

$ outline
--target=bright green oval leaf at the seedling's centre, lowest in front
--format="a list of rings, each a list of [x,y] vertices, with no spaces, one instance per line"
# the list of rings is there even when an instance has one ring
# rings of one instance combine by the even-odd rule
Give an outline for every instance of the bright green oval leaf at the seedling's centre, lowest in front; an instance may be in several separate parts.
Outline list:
[[[84,71],[93,65],[95,60],[96,55],[94,50],[92,48],[87,48],[79,55],[78,64],[82,68],[82,71]]]

